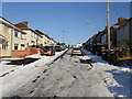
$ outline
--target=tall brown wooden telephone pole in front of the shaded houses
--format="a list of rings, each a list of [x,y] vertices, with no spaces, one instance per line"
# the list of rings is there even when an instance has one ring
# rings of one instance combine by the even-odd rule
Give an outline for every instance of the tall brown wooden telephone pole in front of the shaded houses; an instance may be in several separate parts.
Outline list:
[[[107,16],[108,16],[108,58],[110,59],[110,0],[107,3]]]

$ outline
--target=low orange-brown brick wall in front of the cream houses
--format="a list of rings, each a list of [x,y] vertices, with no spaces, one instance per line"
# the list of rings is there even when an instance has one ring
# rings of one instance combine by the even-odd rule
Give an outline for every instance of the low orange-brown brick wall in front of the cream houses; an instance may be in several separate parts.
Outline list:
[[[12,57],[24,58],[25,56],[37,54],[37,53],[40,53],[38,48],[32,48],[32,47],[28,46],[25,48],[25,51],[13,50],[12,51]]]

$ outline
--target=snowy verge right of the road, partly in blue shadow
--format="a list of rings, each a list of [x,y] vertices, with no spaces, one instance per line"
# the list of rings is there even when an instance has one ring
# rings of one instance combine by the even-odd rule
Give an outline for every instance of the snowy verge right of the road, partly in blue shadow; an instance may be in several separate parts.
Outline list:
[[[84,51],[86,55],[91,57],[95,69],[101,75],[109,91],[114,97],[132,97],[132,70],[130,67],[114,66],[101,59],[100,56],[92,55],[90,52]]]

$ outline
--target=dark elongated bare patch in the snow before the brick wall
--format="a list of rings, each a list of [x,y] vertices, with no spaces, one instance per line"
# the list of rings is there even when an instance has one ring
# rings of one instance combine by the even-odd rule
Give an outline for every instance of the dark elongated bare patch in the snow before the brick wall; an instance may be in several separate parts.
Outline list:
[[[10,63],[7,63],[7,65],[26,65],[30,63],[33,63],[37,61],[38,58],[24,58],[24,59],[18,59],[18,61],[11,61]]]

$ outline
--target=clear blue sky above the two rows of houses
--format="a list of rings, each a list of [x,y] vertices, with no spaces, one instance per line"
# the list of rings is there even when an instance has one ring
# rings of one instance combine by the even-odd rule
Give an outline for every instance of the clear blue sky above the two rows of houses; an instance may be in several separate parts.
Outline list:
[[[129,2],[111,3],[111,24],[130,18]],[[107,25],[106,2],[3,2],[2,16],[12,23],[29,21],[32,29],[57,42],[84,43]],[[86,21],[90,24],[86,24]]]

